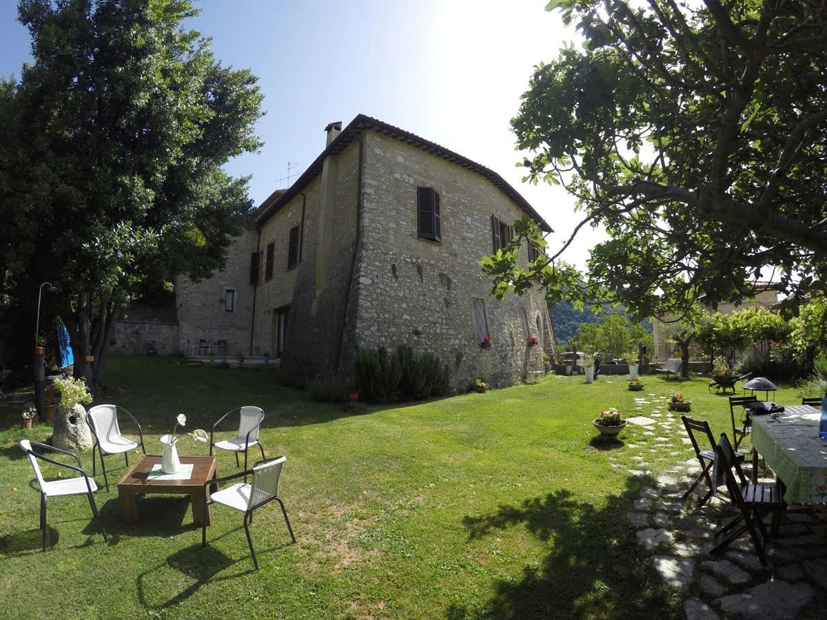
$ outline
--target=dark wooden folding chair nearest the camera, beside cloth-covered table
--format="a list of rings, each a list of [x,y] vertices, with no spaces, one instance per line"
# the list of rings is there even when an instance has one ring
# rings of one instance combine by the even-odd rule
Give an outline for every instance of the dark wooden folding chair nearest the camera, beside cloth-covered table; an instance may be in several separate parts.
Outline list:
[[[729,443],[729,439],[722,433],[720,443],[715,446],[715,482],[713,484],[717,484],[721,474],[724,475],[729,496],[734,498],[740,514],[718,532],[715,532],[715,537],[723,536],[734,527],[739,527],[713,547],[710,553],[724,551],[732,541],[741,537],[744,532],[749,532],[749,537],[753,541],[756,553],[758,553],[758,560],[761,560],[762,566],[766,566],[767,553],[765,547],[768,534],[763,517],[766,517],[768,513],[774,513],[773,518],[777,519],[786,504],[777,484],[739,484],[739,480],[736,479],[733,471],[739,469],[734,455],[735,451]],[[760,537],[758,536],[759,532],[761,533]]]

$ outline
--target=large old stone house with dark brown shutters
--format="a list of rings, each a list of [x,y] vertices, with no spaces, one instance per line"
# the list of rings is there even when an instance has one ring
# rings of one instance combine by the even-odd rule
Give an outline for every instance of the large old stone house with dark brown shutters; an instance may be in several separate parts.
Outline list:
[[[351,373],[357,347],[405,343],[439,355],[457,390],[542,371],[555,347],[543,292],[497,301],[479,260],[523,214],[551,231],[543,218],[499,174],[442,146],[362,115],[341,127],[328,125],[322,154],[261,204],[226,269],[176,283],[181,350],[223,341],[228,355]]]

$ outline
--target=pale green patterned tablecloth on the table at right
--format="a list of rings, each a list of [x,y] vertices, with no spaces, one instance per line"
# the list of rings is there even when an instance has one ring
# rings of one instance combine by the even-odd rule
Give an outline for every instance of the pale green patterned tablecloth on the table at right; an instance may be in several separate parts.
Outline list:
[[[777,420],[753,416],[753,446],[786,485],[786,503],[827,502],[827,442],[819,439],[821,412],[785,407]]]

